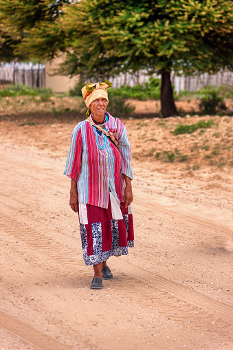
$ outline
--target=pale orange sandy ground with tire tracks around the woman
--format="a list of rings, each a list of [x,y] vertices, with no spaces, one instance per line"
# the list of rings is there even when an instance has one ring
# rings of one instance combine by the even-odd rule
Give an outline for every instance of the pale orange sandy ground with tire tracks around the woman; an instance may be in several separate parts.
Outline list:
[[[98,291],[63,175],[77,120],[2,117],[0,349],[233,349],[232,118],[211,118],[125,121],[135,248]]]

